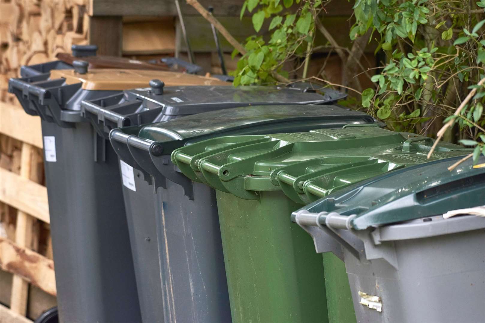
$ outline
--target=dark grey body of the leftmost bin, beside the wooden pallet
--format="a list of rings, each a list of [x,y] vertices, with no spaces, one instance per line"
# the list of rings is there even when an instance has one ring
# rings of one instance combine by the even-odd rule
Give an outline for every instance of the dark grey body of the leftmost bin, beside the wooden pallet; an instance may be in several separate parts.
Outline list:
[[[139,321],[116,154],[105,142],[106,161],[94,162],[89,123],[42,121],[42,133],[55,137],[56,161],[44,167],[61,321]]]

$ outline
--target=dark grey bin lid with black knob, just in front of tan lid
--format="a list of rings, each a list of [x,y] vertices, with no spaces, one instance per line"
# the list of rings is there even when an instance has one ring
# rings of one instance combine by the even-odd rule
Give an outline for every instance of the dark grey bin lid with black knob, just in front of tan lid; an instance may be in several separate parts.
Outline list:
[[[345,93],[331,89],[314,90],[315,85],[311,83],[297,83],[289,87],[238,88],[159,85],[119,92],[92,101],[84,100],[81,102],[82,113],[97,127],[98,133],[107,134],[113,128],[156,123],[212,110],[259,105],[333,104],[346,97]]]

